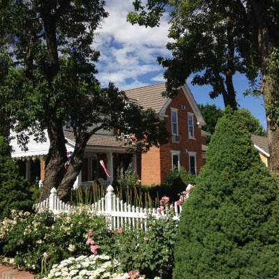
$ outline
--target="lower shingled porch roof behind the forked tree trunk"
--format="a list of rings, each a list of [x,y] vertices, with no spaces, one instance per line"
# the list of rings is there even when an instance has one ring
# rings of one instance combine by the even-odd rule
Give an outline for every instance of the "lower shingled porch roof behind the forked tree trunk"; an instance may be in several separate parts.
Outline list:
[[[73,132],[64,130],[64,136],[75,142],[75,135]],[[123,147],[127,149],[127,145],[125,145],[125,141],[117,140],[115,135],[103,135],[103,134],[94,134],[90,137],[87,145],[93,146],[103,146],[103,147]]]

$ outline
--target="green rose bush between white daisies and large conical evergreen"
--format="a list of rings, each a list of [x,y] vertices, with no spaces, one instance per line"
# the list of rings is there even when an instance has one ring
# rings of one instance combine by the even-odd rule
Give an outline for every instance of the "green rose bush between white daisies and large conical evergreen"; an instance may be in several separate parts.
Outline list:
[[[165,216],[147,222],[146,232],[129,227],[116,230],[114,257],[121,262],[122,270],[139,269],[147,278],[172,278],[177,221]]]

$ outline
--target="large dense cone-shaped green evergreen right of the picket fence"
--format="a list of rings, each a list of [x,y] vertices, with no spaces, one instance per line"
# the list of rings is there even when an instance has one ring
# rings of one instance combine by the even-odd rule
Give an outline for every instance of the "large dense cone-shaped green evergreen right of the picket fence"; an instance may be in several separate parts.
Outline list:
[[[278,184],[241,119],[225,115],[183,203],[173,278],[279,278],[278,216]]]

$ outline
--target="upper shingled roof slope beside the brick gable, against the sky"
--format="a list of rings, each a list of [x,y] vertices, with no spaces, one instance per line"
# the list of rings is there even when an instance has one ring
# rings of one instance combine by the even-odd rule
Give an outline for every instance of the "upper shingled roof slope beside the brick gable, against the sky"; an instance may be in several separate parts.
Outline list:
[[[165,82],[143,86],[140,88],[126,90],[126,96],[137,100],[137,104],[144,107],[144,110],[152,108],[156,113],[162,110],[168,98],[162,96],[165,89]]]

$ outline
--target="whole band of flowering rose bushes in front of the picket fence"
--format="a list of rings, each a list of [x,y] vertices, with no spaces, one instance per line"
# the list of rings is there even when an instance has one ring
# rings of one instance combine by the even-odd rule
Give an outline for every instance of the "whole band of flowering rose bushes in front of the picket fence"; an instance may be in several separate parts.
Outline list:
[[[105,217],[88,214],[88,209],[79,206],[55,218],[49,211],[13,211],[10,219],[0,223],[0,255],[44,274],[69,256],[109,255],[119,261],[118,270],[123,273],[140,270],[146,278],[172,277],[177,235],[173,215],[156,222],[150,217],[146,232],[128,224],[110,231]]]

